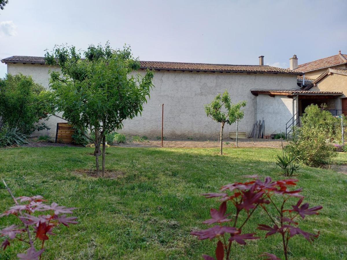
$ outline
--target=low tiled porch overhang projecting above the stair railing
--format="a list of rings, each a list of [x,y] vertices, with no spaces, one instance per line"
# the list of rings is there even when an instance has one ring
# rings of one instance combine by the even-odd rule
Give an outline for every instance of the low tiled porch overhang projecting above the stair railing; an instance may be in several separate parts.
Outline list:
[[[334,91],[310,91],[310,90],[290,90],[290,89],[251,89],[251,93],[254,96],[259,94],[269,95],[274,97],[275,95],[283,95],[289,98],[298,96],[299,99],[306,98],[336,98],[342,95],[342,92]]]

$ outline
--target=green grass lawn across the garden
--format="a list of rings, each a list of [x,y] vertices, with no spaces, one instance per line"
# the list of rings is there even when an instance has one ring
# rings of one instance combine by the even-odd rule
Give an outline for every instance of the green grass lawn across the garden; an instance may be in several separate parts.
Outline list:
[[[202,259],[214,254],[215,241],[189,235],[205,228],[214,199],[199,194],[217,192],[221,185],[243,181],[244,174],[280,179],[275,164],[278,149],[146,149],[108,148],[106,167],[124,172],[118,179],[77,176],[77,169],[93,168],[93,150],[83,147],[0,149],[0,177],[15,196],[40,194],[68,207],[78,207],[78,225],[57,229],[50,236],[44,259]],[[347,163],[346,154],[337,161]],[[320,215],[301,220],[301,228],[320,231],[310,245],[303,237],[289,242],[290,259],[347,258],[347,175],[303,166],[298,173],[305,201],[322,205]],[[12,206],[0,186],[0,212]],[[274,213],[272,211],[271,213]],[[10,224],[0,218],[0,227]],[[259,210],[243,232],[268,220]],[[264,237],[264,232],[257,231]],[[0,251],[0,259],[14,259],[25,251],[19,243]],[[262,252],[281,256],[278,235],[232,248],[233,259],[257,259]]]

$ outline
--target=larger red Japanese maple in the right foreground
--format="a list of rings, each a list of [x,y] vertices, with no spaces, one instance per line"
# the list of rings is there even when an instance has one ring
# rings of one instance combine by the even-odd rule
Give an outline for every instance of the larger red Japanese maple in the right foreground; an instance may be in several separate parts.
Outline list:
[[[271,177],[265,177],[265,180],[261,181],[257,175],[247,175],[245,177],[253,180],[243,183],[235,182],[222,186],[220,193],[202,194],[206,198],[220,198],[219,201],[222,203],[218,210],[212,208],[210,210],[211,218],[203,222],[204,224],[214,225],[208,229],[191,232],[191,234],[198,236],[200,240],[217,238],[218,241],[215,250],[217,260],[223,260],[224,258],[227,260],[230,259],[231,244],[234,241],[244,245],[248,239],[260,238],[259,236],[255,236],[255,233],[242,233],[242,228],[257,209],[264,210],[273,223],[272,227],[258,224],[258,229],[267,231],[265,238],[276,233],[282,236],[283,254],[286,260],[288,259],[288,241],[291,237],[300,234],[309,242],[313,241],[314,237],[318,237],[319,232],[318,234],[305,232],[298,227],[298,223],[295,220],[299,216],[305,218],[305,215],[318,214],[318,210],[322,209],[322,206],[309,208],[308,203],[302,204],[304,197],[299,194],[302,188],[289,189],[290,187],[294,187],[298,180],[272,181]],[[282,198],[279,205],[273,200],[275,194],[280,195]],[[297,197],[298,202],[296,205],[292,205],[290,209],[287,209],[286,202],[291,197]],[[234,212],[227,213],[227,202],[228,204],[234,205]],[[277,217],[273,217],[269,213],[269,206],[275,208],[278,213]],[[241,213],[245,214],[243,221],[240,221]],[[276,255],[268,252],[263,253],[261,256],[270,260],[280,260]],[[203,255],[203,258],[205,260],[214,260],[210,255]]]

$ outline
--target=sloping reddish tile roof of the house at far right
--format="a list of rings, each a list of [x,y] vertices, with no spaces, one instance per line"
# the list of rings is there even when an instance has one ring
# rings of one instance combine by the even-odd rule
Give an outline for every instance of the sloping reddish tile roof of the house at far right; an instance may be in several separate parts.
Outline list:
[[[295,69],[295,71],[308,72],[308,71],[336,66],[339,64],[345,64],[345,63],[347,63],[347,54],[339,53],[337,55],[332,55],[327,58],[301,64],[298,66],[297,69]]]

